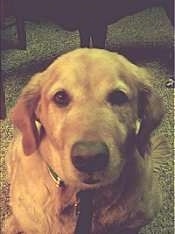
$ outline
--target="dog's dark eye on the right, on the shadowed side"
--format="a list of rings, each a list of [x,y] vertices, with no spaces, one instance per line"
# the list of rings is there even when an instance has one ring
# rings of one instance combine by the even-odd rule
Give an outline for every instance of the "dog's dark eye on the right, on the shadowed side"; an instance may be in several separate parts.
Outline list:
[[[121,106],[128,102],[128,96],[121,90],[114,90],[108,95],[107,101],[111,105]]]

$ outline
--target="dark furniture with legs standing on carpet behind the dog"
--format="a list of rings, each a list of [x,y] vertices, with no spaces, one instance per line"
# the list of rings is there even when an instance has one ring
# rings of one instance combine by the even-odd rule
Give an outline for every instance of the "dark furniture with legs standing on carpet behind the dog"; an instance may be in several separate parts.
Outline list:
[[[161,5],[172,24],[174,23],[173,0],[2,0],[9,1],[16,18],[19,47],[26,48],[25,19],[46,18],[66,30],[78,29],[80,46],[105,47],[107,25],[145,8]]]

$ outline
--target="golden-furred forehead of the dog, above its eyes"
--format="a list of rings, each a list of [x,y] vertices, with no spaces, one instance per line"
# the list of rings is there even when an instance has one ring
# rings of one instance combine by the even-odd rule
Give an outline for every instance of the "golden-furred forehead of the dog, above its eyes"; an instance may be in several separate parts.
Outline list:
[[[51,65],[53,82],[50,82],[49,92],[60,88],[97,91],[98,87],[128,91],[130,88],[128,79],[132,79],[134,69],[135,65],[116,53],[80,49],[76,53],[61,56]]]

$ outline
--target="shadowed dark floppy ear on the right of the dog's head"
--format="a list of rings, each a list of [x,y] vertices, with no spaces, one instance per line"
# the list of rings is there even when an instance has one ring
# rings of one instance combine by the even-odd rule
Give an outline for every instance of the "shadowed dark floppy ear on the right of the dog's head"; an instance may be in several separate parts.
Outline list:
[[[147,73],[144,72],[144,74],[146,75]],[[161,98],[147,82],[147,78],[145,76],[142,77],[138,92],[140,130],[137,134],[137,146],[142,156],[149,150],[150,135],[160,124],[163,114],[164,111]]]

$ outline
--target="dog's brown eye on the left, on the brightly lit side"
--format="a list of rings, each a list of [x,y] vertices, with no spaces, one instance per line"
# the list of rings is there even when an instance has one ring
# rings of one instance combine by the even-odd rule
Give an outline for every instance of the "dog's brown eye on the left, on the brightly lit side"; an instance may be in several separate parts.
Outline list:
[[[59,107],[65,107],[70,103],[70,96],[65,90],[60,90],[54,95],[53,100]]]

